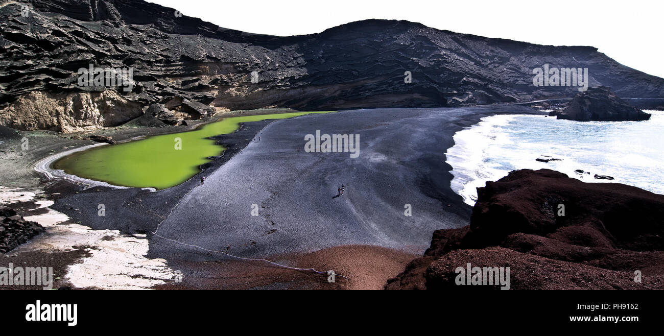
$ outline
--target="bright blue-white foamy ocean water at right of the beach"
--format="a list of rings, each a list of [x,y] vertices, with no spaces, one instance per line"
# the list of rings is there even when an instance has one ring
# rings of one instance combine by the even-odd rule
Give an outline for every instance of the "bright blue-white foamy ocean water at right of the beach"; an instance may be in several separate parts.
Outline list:
[[[584,182],[616,182],[664,194],[664,112],[645,122],[574,122],[501,115],[454,135],[446,155],[452,190],[474,205],[477,187],[515,169],[553,169]],[[560,161],[536,161],[554,157]],[[580,174],[576,169],[590,172]],[[615,179],[594,179],[594,175]]]

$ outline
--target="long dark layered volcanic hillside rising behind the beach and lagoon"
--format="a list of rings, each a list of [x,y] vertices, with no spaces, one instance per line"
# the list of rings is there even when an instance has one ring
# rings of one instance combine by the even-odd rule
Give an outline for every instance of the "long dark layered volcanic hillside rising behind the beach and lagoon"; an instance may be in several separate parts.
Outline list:
[[[139,0],[18,0],[0,6],[0,45],[0,124],[18,129],[117,126],[155,103],[187,120],[216,109],[467,106],[578,92],[534,86],[533,69],[543,64],[588,68],[588,84],[622,97],[664,97],[662,78],[590,46],[488,39],[408,21],[274,37]],[[132,70],[131,85],[80,86],[78,70],[90,64]],[[91,106],[67,110],[67,97],[105,90],[123,98],[108,100],[113,118]]]

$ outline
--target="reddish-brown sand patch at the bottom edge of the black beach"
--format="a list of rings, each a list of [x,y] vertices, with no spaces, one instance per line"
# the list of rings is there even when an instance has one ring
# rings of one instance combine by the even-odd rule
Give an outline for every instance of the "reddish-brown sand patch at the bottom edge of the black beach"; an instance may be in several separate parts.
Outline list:
[[[305,255],[276,256],[274,262],[327,274],[290,270],[260,261],[222,259],[212,262],[176,262],[182,282],[153,287],[157,290],[382,290],[385,282],[401,272],[414,254],[379,246],[344,245]],[[170,264],[170,263],[169,263]],[[349,279],[342,278],[347,276]]]

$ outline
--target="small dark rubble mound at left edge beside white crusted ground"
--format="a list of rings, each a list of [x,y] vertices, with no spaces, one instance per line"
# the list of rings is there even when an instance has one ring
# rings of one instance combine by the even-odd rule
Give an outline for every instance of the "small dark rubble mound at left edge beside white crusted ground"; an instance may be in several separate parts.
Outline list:
[[[0,253],[7,253],[44,232],[37,222],[19,216],[15,210],[0,206]]]

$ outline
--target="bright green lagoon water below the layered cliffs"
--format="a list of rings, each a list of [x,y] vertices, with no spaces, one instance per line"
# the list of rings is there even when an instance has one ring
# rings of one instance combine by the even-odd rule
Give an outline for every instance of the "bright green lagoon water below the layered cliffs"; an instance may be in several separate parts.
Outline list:
[[[95,181],[105,181],[124,187],[153,187],[166,189],[179,185],[201,171],[207,157],[224,151],[214,135],[236,131],[243,122],[284,119],[303,114],[328,112],[293,112],[232,117],[207,124],[193,131],[155,135],[137,141],[104,145],[63,157],[54,163],[55,169]],[[180,141],[177,141],[177,139]],[[176,149],[177,144],[181,149]]]

